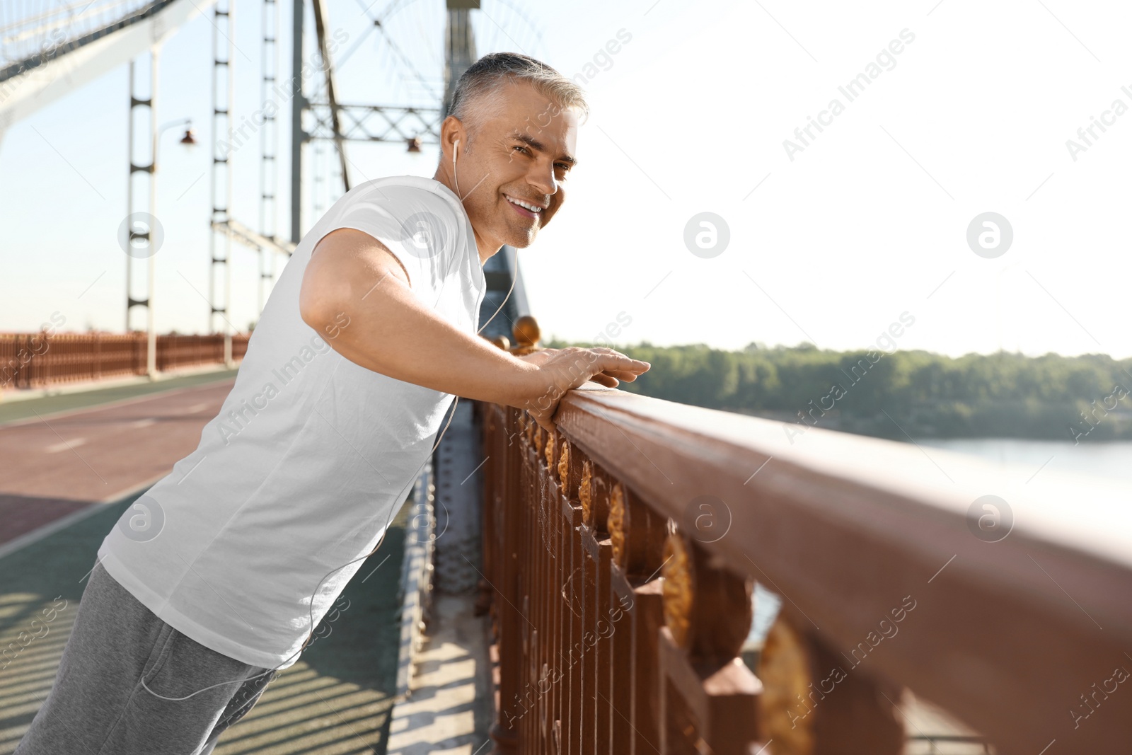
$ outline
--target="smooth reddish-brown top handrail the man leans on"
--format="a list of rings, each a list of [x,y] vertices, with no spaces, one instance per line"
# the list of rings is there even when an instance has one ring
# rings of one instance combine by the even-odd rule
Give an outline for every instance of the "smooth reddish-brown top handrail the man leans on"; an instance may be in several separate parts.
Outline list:
[[[1132,666],[1132,532],[1118,526],[1129,486],[1084,491],[1083,478],[1039,470],[1044,490],[1027,487],[1031,475],[1004,491],[1000,470],[957,454],[593,384],[563,398],[556,422],[678,524],[695,498],[721,499],[729,530],[700,544],[777,590],[835,651],[875,636],[910,595],[915,620],[868,655],[869,670],[1007,752],[1036,753],[1074,729],[1079,695]],[[787,429],[803,437],[791,443]],[[1017,520],[996,542],[969,526],[983,495],[1007,499]],[[1120,718],[1090,722],[1095,741],[1132,727]]]

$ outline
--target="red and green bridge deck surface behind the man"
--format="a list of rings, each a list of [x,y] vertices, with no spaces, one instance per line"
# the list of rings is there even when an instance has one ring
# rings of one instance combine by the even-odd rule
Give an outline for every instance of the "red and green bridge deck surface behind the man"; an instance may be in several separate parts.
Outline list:
[[[213,374],[0,406],[0,755],[51,688],[102,539],[196,447],[231,385]],[[409,511],[215,755],[385,754]]]

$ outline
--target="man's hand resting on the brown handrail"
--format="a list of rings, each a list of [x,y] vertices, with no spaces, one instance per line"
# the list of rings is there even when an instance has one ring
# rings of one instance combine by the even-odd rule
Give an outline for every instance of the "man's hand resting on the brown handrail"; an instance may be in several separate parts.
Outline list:
[[[604,346],[543,349],[520,359],[539,367],[534,377],[542,391],[535,398],[513,405],[528,410],[547,430],[555,429],[552,418],[558,409],[558,402],[567,391],[588,380],[607,388],[616,388],[620,380],[632,383],[651,367],[649,362],[631,359],[619,351]]]

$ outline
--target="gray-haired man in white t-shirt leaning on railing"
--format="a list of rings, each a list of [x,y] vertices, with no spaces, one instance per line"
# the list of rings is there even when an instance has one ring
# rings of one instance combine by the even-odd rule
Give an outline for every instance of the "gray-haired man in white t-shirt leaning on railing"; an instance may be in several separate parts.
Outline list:
[[[565,391],[649,369],[477,336],[482,265],[561,207],[585,110],[548,66],[487,55],[460,79],[432,179],[363,183],[307,233],[199,447],[98,549],[17,755],[211,753],[379,544],[454,395],[549,428]]]

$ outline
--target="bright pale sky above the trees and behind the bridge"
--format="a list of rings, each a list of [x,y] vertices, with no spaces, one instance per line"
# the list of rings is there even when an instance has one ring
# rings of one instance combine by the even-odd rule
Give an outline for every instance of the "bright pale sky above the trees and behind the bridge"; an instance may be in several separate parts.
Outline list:
[[[367,3],[329,0],[340,52],[351,51],[341,100],[427,104],[443,83],[443,2]],[[861,5],[483,0],[480,54],[525,52],[586,78],[569,199],[520,251],[544,335],[593,342],[629,320],[618,343],[844,350],[897,323],[900,349],[1132,355],[1132,8]],[[158,122],[191,117],[204,146],[186,151],[177,129],[162,139],[160,332],[208,327],[211,18],[161,54]],[[237,120],[264,104],[259,22],[259,5],[235,0]],[[0,331],[53,312],[65,331],[123,329],[127,104],[122,66],[0,140]],[[285,174],[285,117],[280,131]],[[355,183],[432,175],[438,154],[348,151]],[[233,214],[258,228],[258,134],[233,164]],[[318,214],[341,195],[321,172]],[[258,311],[258,258],[237,244],[232,258],[230,319],[242,329]]]

